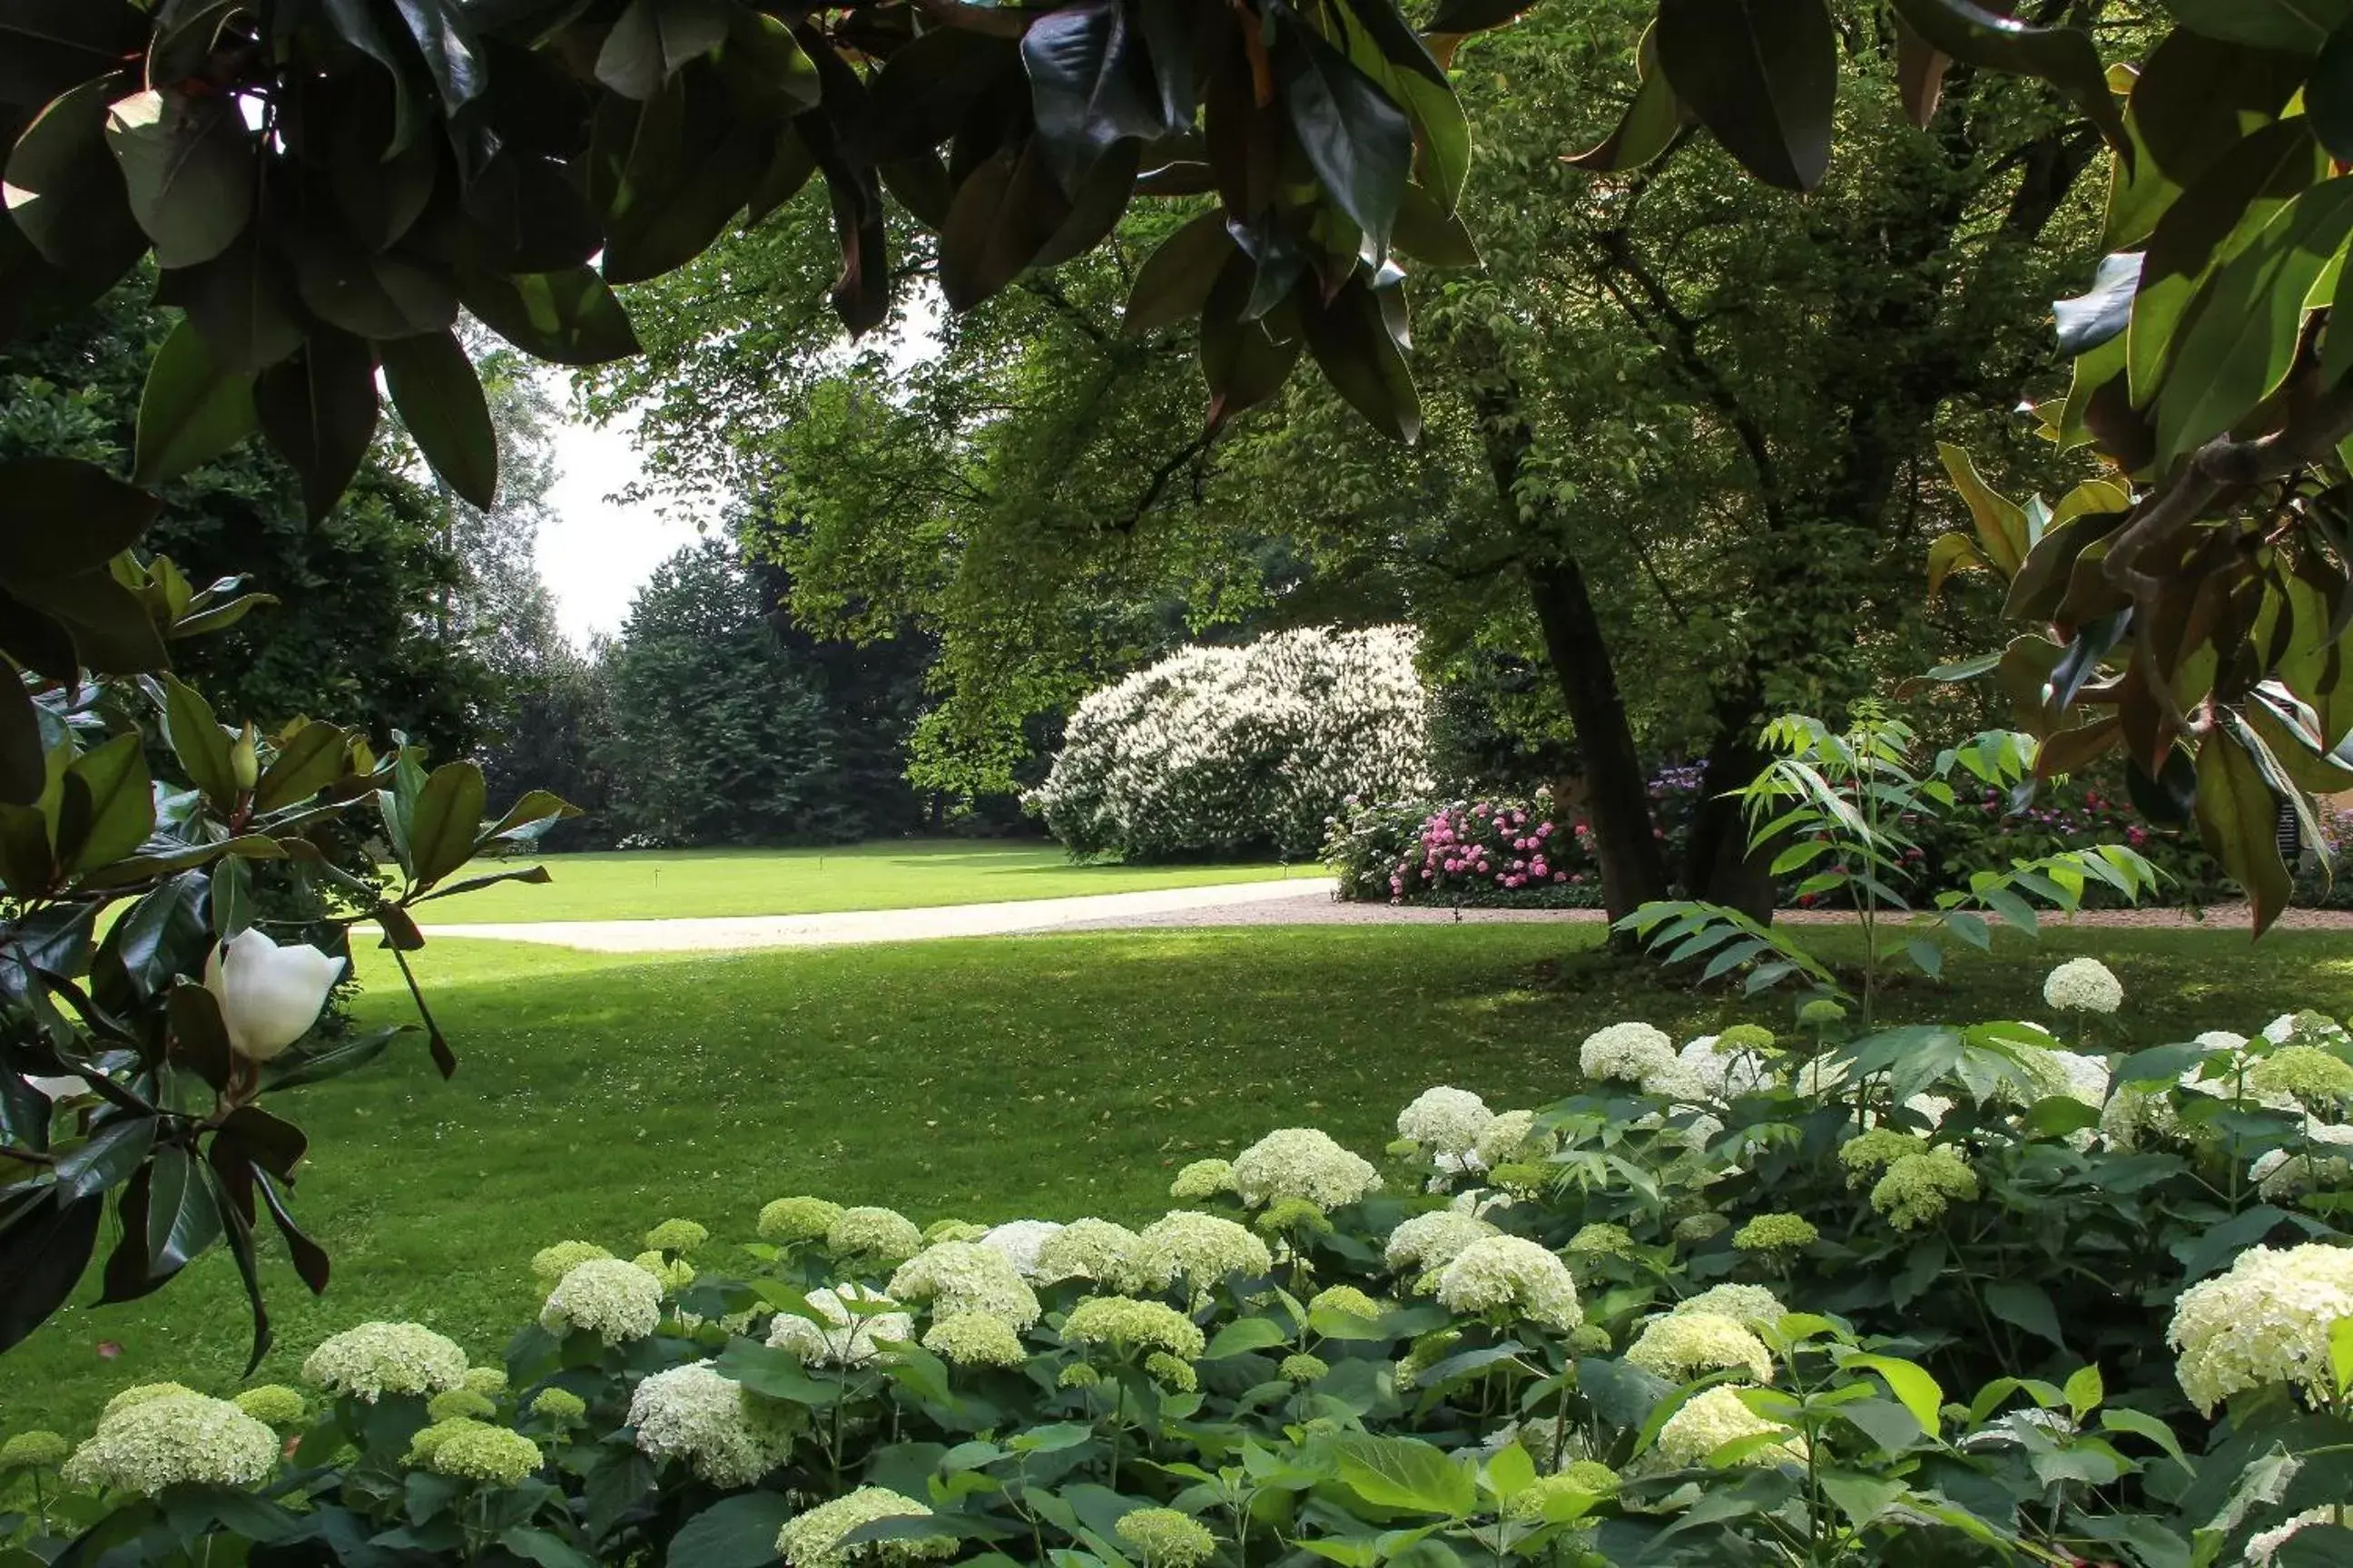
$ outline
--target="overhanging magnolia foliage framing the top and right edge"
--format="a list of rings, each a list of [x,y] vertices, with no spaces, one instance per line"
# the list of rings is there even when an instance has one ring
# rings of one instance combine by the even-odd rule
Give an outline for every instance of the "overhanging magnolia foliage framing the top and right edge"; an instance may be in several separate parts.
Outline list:
[[[1313,355],[1414,440],[1405,263],[1475,259],[1447,68],[1532,2],[1407,19],[1395,0],[0,0],[0,331],[153,256],[186,320],[141,402],[139,484],[259,428],[320,512],[367,449],[381,374],[433,468],[485,503],[496,449],[461,308],[548,360],[626,355],[612,284],[816,179],[856,334],[892,310],[892,214],[936,235],[962,310],[1146,195],[1195,216],[1139,270],[1127,324],[1198,322],[1212,433]],[[2024,729],[2195,792],[2268,922],[2275,797],[2353,780],[2337,762],[2353,341],[2329,327],[2353,71],[2337,5],[2172,0],[2104,31],[2139,61],[2101,56],[2089,24],[2111,9],[1659,0],[1628,38],[1624,122],[1574,162],[1642,179],[1699,127],[1809,190],[1842,47],[1892,56],[1925,127],[1962,66],[2042,78],[2106,139],[2113,256],[2059,306],[2078,371],[2045,416],[2111,480],[2066,527],[1981,510],[1995,564],[2033,557],[2071,585],[1998,670]],[[68,463],[0,482],[0,649],[19,665],[136,635],[104,571],[59,574],[33,545],[68,527],[136,538],[144,503],[101,480]],[[1793,550],[1807,522],[1786,522]],[[40,790],[33,708],[0,691],[0,797]]]

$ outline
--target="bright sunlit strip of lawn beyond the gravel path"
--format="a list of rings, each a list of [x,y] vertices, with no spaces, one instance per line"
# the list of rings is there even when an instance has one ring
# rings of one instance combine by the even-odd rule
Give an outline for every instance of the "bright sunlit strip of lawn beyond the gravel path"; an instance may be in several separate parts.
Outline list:
[[[824,914],[1320,877],[1320,865],[1073,865],[1054,844],[969,839],[828,849],[635,849],[539,856],[553,882],[499,884],[419,910],[426,924]]]

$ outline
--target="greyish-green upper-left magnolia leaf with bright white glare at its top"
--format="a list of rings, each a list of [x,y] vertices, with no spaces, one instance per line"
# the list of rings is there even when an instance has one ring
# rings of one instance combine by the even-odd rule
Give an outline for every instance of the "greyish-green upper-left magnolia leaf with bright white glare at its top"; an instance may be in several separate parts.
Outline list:
[[[228,94],[134,92],[106,110],[106,146],[158,266],[212,261],[254,216],[259,148]]]

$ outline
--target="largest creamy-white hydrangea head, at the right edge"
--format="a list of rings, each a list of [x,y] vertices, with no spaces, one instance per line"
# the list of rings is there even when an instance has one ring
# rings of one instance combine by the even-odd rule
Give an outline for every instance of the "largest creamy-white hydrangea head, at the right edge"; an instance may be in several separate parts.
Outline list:
[[[2329,1326],[2353,1316],[2353,1248],[2254,1246],[2226,1274],[2181,1293],[2165,1340],[2174,1375],[2205,1413],[2231,1394],[2294,1382],[2329,1385]]]

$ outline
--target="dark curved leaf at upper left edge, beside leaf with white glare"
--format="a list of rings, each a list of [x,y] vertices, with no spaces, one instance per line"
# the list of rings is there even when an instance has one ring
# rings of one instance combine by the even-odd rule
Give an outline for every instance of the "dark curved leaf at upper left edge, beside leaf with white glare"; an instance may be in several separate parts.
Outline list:
[[[7,155],[7,216],[40,256],[104,289],[148,247],[132,216],[122,172],[106,150],[106,103],[125,78],[66,92],[16,136]]]

